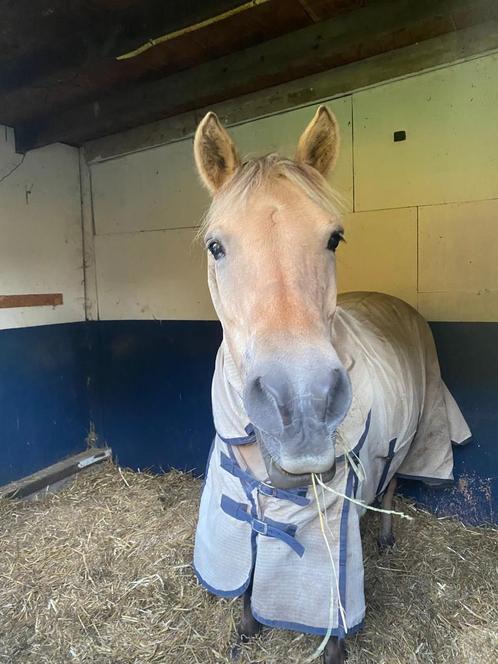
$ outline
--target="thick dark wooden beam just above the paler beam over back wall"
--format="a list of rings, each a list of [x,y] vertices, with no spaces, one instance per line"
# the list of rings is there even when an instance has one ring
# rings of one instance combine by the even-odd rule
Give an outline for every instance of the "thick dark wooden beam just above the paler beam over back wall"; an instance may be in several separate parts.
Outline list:
[[[498,16],[494,0],[384,0],[165,79],[17,127],[20,151],[80,145]]]

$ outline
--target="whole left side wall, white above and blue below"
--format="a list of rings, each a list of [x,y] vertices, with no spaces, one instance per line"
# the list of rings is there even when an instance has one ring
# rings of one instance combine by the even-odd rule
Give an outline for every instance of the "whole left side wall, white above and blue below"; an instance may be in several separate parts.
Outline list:
[[[0,484],[84,445],[83,282],[78,150],[23,157],[0,127],[0,295],[63,295],[56,307],[0,308]]]

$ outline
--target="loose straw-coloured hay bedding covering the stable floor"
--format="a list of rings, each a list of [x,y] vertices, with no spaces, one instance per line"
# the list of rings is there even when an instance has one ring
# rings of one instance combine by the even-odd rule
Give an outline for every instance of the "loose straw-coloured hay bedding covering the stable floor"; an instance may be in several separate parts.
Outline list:
[[[0,503],[0,662],[229,661],[240,602],[190,566],[199,491],[187,474],[106,463],[40,502]],[[388,555],[377,515],[363,519],[368,613],[349,664],[498,661],[497,531],[397,508],[416,518],[396,522]],[[265,630],[240,662],[298,663],[316,645]]]

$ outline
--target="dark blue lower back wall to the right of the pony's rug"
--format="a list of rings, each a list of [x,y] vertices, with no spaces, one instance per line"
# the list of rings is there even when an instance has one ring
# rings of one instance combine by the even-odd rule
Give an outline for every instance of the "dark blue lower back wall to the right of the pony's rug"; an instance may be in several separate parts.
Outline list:
[[[431,323],[441,372],[462,409],[472,442],[454,447],[455,484],[440,490],[403,482],[436,514],[467,523],[498,521],[498,323]]]

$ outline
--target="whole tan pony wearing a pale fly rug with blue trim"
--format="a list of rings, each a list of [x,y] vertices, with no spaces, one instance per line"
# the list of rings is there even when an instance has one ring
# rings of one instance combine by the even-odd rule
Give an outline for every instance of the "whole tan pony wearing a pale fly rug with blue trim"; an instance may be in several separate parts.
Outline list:
[[[452,443],[470,436],[423,318],[379,293],[337,297],[338,146],[323,106],[294,160],[241,161],[213,113],[194,144],[224,333],[195,571],[244,596],[239,642],[261,625],[321,635],[309,661],[327,664],[365,616],[360,516],[381,500],[379,544],[393,544],[396,477],[451,481]]]

